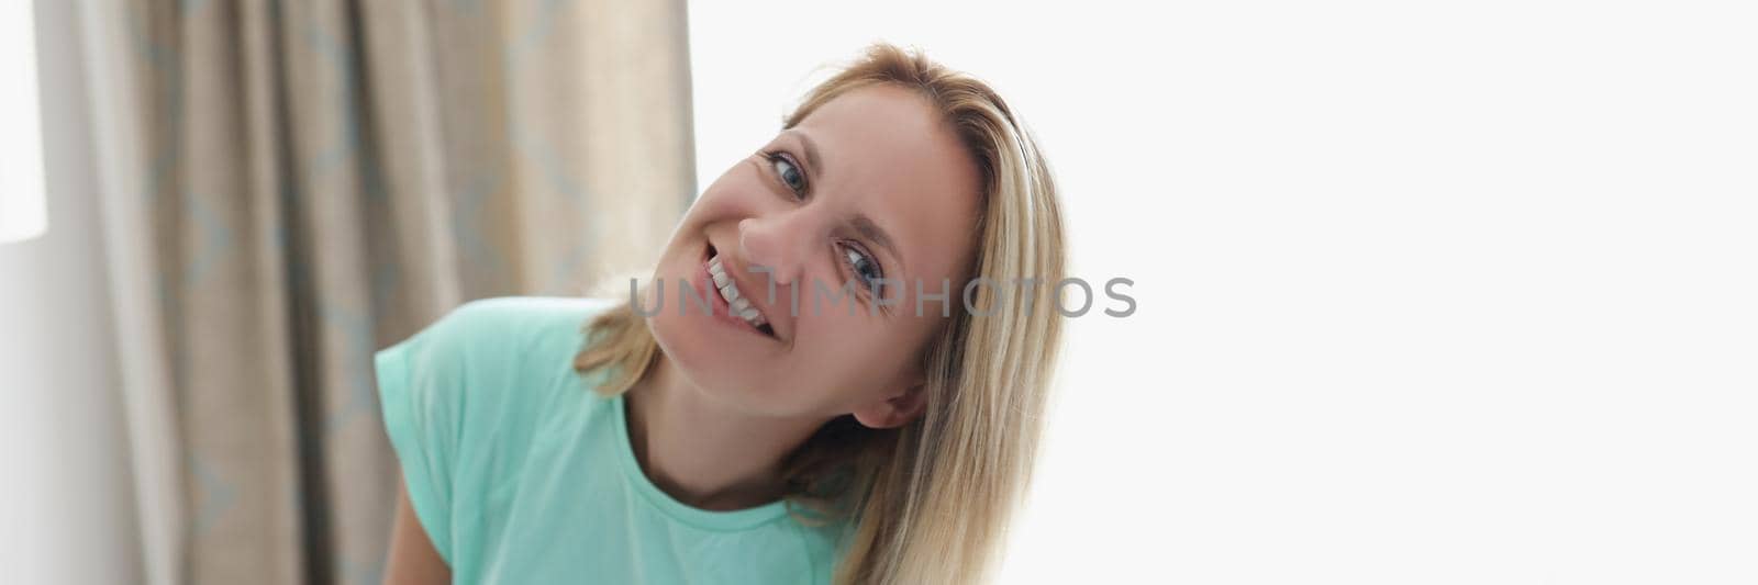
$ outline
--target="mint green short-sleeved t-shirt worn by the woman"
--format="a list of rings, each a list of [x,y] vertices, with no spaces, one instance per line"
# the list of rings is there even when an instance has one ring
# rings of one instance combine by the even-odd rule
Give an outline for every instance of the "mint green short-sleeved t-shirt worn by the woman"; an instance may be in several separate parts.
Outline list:
[[[610,300],[468,302],[378,351],[385,430],[454,583],[828,583],[846,524],[691,508],[573,357]]]

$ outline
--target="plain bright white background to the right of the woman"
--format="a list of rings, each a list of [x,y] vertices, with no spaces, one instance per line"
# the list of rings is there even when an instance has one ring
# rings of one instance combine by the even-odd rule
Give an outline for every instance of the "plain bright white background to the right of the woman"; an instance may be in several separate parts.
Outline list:
[[[698,184],[868,39],[1058,170],[1004,583],[1758,581],[1758,35],[1732,4],[691,2]],[[1097,313],[1095,313],[1097,314]]]

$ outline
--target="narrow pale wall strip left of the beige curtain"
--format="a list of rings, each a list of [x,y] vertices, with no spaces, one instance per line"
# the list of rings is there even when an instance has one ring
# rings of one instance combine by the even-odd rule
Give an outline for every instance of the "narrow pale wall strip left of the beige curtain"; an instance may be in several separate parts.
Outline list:
[[[76,5],[37,26],[49,230],[0,244],[0,583],[137,583]]]

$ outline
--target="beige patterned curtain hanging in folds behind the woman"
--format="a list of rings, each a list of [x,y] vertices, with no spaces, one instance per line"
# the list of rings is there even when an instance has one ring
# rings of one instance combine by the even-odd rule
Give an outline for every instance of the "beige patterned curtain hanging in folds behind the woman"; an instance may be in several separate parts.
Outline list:
[[[656,258],[682,0],[81,9],[151,581],[378,583],[373,351]]]

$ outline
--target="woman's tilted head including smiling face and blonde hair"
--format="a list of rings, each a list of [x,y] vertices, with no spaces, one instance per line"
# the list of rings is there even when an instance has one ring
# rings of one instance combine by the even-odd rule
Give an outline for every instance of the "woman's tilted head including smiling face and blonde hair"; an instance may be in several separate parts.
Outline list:
[[[839,581],[976,581],[1030,480],[1062,237],[1007,104],[875,44],[691,206],[654,269],[672,307],[596,320],[608,343],[577,367],[626,365],[615,394],[665,351],[737,408],[830,420],[788,469],[789,501],[856,522]],[[744,318],[680,313],[677,286]]]

